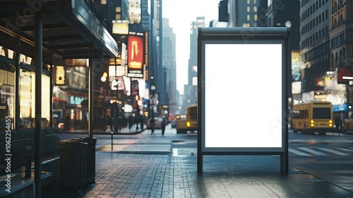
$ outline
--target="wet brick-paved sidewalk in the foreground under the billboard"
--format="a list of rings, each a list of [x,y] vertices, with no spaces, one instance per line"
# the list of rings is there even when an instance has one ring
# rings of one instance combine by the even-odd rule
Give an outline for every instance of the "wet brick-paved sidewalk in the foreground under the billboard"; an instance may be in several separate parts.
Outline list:
[[[289,174],[280,173],[279,156],[203,156],[203,173],[198,174],[196,149],[178,150],[178,155],[98,151],[96,182],[56,196],[353,197],[292,167]]]

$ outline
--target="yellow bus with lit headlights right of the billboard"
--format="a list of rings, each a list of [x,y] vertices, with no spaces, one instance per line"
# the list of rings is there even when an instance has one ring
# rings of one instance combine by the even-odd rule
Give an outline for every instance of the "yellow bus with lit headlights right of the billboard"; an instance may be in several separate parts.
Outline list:
[[[333,132],[333,111],[330,102],[311,102],[293,105],[293,132]]]

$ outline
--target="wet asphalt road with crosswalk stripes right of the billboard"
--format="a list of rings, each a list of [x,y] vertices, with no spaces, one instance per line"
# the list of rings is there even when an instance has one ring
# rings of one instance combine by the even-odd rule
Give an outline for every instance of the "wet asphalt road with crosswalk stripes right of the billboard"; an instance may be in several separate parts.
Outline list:
[[[353,192],[352,156],[352,134],[289,133],[289,165],[350,192]]]

